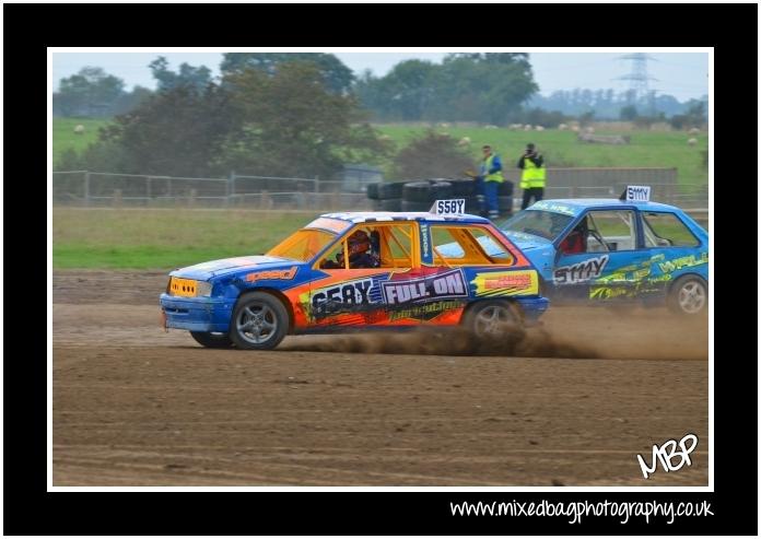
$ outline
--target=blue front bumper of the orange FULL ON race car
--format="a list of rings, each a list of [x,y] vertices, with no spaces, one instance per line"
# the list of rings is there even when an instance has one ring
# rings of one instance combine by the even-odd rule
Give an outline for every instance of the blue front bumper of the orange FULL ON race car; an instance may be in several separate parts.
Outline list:
[[[188,331],[220,331],[230,329],[233,300],[214,297],[159,296],[164,327]]]

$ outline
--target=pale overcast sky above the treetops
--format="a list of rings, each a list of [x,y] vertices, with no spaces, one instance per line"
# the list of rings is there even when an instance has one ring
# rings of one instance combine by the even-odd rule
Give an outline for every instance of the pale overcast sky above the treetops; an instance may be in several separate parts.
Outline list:
[[[453,50],[455,51],[455,50]],[[361,73],[370,69],[376,75],[387,73],[396,63],[410,58],[440,62],[446,52],[333,52],[343,63]],[[609,89],[625,90],[628,83],[618,77],[631,71],[631,61],[618,59],[624,52],[531,52],[530,61],[539,91],[548,95],[557,90]],[[169,68],[187,62],[207,66],[219,74],[221,52],[54,52],[52,80],[58,87],[61,78],[70,77],[84,66],[103,68],[125,81],[128,89],[139,84],[155,87],[148,65],[157,56],[169,61]],[[649,52],[655,60],[647,62],[653,77],[651,89],[670,94],[680,101],[709,93],[707,52]]]

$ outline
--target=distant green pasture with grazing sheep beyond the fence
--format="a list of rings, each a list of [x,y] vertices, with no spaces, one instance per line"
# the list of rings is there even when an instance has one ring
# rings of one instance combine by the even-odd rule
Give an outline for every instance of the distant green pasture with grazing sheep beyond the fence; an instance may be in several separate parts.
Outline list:
[[[52,149],[54,163],[67,150],[78,152],[97,139],[97,128],[106,125],[108,119],[54,118]],[[81,124],[85,128],[83,134],[74,133],[74,126]],[[377,129],[391,138],[397,149],[403,148],[412,138],[422,134],[422,126],[378,125]],[[437,128],[438,132],[447,132],[459,140],[469,137],[473,160],[480,159],[479,149],[491,144],[512,165],[517,161],[527,142],[534,142],[545,154],[547,163],[552,166],[654,166],[676,167],[681,185],[706,185],[709,174],[702,167],[701,152],[709,145],[707,134],[700,133],[694,138],[698,144],[688,145],[691,138],[686,132],[631,131],[617,132],[629,134],[631,144],[606,145],[583,144],[576,141],[576,134],[571,131],[549,129],[546,131],[508,131],[507,129],[485,129],[481,127]],[[605,131],[598,130],[599,133]],[[386,163],[388,165],[388,163]],[[55,167],[55,166],[54,166]],[[103,171],[106,172],[106,171]]]

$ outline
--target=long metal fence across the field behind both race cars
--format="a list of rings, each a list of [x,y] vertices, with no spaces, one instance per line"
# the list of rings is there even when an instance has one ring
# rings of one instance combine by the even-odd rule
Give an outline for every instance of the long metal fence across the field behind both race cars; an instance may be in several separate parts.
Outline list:
[[[508,169],[505,177],[517,187],[519,174]],[[675,168],[549,168],[547,178],[548,199],[617,198],[627,185],[649,185],[655,201],[687,209],[709,207],[707,186],[677,184]],[[364,185],[234,173],[227,178],[190,178],[63,171],[52,173],[52,199],[58,206],[84,207],[368,210]]]

